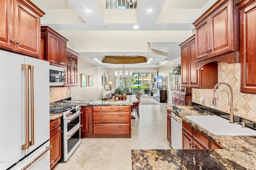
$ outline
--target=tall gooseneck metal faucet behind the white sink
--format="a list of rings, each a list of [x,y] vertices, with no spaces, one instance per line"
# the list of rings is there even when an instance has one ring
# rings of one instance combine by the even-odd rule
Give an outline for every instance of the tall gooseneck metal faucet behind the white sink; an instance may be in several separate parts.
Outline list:
[[[212,99],[212,105],[213,106],[217,106],[217,100],[218,100],[218,93],[217,93],[217,98],[215,98],[215,90],[218,87],[218,85],[220,84],[225,84],[226,86],[228,86],[229,90],[230,90],[230,102],[229,102],[229,95],[228,95],[228,105],[230,106],[230,115],[229,115],[229,123],[235,123],[234,122],[234,111],[238,111],[238,109],[235,107],[233,107],[233,91],[232,91],[232,87],[230,86],[230,84],[225,83],[225,82],[220,82],[215,84],[214,88],[213,88],[213,99]],[[226,90],[220,90],[221,91],[225,91]],[[227,92],[228,93],[228,92]]]

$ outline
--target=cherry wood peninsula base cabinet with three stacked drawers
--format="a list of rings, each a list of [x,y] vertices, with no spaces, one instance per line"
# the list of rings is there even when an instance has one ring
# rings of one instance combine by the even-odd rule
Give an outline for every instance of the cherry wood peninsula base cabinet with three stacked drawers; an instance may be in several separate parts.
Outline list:
[[[131,106],[83,106],[82,137],[131,137]]]

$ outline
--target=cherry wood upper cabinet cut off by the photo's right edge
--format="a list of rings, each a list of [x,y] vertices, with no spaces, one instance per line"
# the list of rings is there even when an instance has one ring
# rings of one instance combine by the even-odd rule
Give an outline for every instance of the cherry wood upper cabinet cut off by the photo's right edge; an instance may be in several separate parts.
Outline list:
[[[240,9],[240,90],[256,94],[256,0],[241,0],[237,5]]]

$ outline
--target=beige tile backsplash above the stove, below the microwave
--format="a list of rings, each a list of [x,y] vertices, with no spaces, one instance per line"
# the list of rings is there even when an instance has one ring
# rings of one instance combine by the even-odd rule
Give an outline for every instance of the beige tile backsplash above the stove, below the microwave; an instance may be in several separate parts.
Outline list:
[[[66,98],[70,98],[70,97],[71,97],[70,87],[50,87],[50,103],[63,100]]]

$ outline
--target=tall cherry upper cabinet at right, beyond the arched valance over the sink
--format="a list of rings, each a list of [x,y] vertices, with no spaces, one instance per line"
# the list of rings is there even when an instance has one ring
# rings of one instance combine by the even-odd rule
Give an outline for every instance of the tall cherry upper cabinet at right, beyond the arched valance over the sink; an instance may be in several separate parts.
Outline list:
[[[218,83],[217,62],[207,63],[197,69],[196,43],[194,35],[180,44],[181,48],[181,87],[213,88]],[[209,78],[210,77],[210,78]]]

